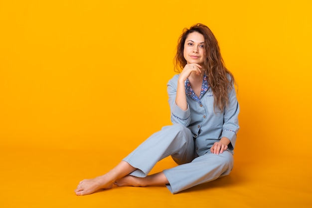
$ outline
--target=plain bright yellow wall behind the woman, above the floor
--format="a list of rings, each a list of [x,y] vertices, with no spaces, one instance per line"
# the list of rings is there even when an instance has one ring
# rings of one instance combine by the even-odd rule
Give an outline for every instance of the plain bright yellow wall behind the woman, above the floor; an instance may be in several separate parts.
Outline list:
[[[311,0],[1,0],[1,145],[129,152],[170,124],[176,41],[201,22],[237,80],[236,157],[307,153],[311,8]]]

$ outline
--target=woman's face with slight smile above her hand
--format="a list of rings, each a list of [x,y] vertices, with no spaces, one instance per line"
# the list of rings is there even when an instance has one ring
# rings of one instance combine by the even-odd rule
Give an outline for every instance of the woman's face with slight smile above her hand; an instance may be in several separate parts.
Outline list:
[[[198,32],[188,34],[184,42],[183,56],[187,62],[202,64],[205,58],[204,36]]]

